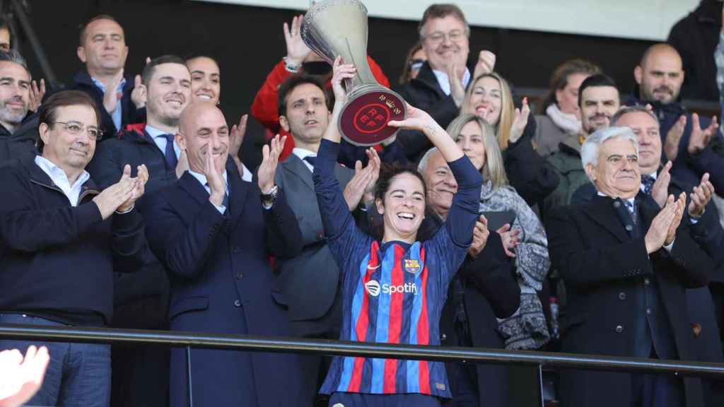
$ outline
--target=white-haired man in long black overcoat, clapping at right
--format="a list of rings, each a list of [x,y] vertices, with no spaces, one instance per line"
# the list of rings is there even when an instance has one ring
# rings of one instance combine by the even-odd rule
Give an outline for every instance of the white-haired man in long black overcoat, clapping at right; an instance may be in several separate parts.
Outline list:
[[[551,212],[550,256],[568,295],[562,349],[640,358],[696,358],[685,288],[707,285],[712,261],[681,225],[685,194],[663,209],[640,193],[639,146],[628,127],[589,136],[581,149],[597,194]],[[701,406],[698,379],[566,371],[565,406]],[[611,389],[616,389],[612,391]]]

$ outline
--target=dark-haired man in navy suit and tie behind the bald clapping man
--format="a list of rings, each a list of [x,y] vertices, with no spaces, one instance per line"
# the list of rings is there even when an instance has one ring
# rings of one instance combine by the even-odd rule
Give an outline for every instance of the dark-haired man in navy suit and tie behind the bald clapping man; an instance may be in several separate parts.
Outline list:
[[[111,137],[98,146],[88,172],[100,185],[117,180],[125,163],[132,168],[143,164],[151,175],[148,192],[153,192],[175,182],[188,168],[185,155],[174,141],[181,112],[191,100],[191,76],[185,61],[178,56],[159,56],[143,68],[141,82],[138,90],[146,104],[147,122],[130,125],[119,137]],[[138,272],[119,274],[116,288],[114,327],[168,328],[169,281],[151,253]],[[167,403],[167,349],[114,347],[113,351],[119,356],[113,364],[114,403]]]

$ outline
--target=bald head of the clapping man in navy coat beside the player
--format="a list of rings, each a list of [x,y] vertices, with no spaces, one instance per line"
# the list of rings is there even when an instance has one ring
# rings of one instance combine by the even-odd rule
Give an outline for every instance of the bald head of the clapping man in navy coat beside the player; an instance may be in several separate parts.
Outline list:
[[[206,156],[213,155],[214,166],[224,172],[229,156],[229,126],[221,110],[211,102],[194,102],[184,111],[176,142],[188,156],[189,168],[206,174]]]

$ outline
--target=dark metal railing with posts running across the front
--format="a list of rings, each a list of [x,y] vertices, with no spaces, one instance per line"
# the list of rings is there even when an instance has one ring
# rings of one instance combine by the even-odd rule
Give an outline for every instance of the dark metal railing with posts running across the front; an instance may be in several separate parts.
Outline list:
[[[185,348],[190,366],[192,348],[228,351],[316,353],[332,356],[362,356],[473,364],[514,364],[538,369],[538,395],[541,403],[542,370],[584,369],[610,372],[675,374],[686,377],[724,378],[724,364],[666,361],[647,358],[574,355],[534,351],[505,351],[482,348],[444,348],[441,346],[391,345],[338,340],[308,340],[293,337],[219,335],[199,332],[118,330],[112,328],[39,327],[37,325],[0,325],[0,339],[43,342],[108,343],[115,345],[161,345]],[[189,369],[190,374],[190,369]],[[189,380],[191,379],[189,375]],[[188,389],[190,391],[191,385]],[[189,395],[189,400],[193,400]]]

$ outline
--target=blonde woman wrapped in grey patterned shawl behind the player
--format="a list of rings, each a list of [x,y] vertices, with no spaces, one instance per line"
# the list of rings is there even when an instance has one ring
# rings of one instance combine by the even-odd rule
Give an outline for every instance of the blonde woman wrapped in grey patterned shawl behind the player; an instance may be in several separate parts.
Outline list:
[[[447,133],[483,175],[479,212],[513,211],[515,219],[510,228],[520,231],[520,243],[515,253],[508,252],[508,256],[515,258],[521,307],[513,316],[498,320],[505,348],[540,348],[550,338],[542,304],[536,295],[550,267],[543,225],[526,201],[508,185],[498,146],[500,139],[491,125],[475,114],[461,114],[447,127]]]

